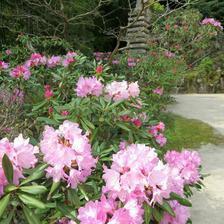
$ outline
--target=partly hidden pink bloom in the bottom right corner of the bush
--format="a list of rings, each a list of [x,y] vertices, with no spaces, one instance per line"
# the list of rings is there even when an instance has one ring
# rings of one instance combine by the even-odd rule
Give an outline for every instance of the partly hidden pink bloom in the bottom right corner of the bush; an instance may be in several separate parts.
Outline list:
[[[173,217],[170,214],[165,213],[160,224],[186,224],[187,220],[190,218],[189,208],[180,205],[177,201],[171,201],[170,205],[176,216]]]

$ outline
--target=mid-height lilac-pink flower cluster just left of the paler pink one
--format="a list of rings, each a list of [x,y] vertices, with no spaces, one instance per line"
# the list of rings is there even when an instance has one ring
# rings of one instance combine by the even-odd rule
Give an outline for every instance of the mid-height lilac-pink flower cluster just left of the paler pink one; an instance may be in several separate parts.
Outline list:
[[[103,84],[96,77],[84,78],[81,76],[75,91],[79,97],[100,96],[103,92]]]

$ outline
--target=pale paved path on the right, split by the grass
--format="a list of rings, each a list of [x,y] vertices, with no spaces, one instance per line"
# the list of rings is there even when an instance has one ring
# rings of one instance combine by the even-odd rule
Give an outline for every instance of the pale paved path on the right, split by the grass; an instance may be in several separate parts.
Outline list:
[[[169,111],[210,124],[224,135],[224,94],[175,95],[177,104]],[[224,145],[208,144],[199,153],[203,173],[209,173],[202,192],[192,198],[193,224],[224,224]]]

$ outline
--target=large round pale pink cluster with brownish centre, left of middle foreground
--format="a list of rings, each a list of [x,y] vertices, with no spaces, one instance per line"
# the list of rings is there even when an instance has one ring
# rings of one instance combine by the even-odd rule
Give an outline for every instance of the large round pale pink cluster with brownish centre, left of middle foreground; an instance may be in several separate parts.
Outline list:
[[[54,182],[64,180],[76,188],[91,174],[97,160],[91,155],[91,145],[77,123],[64,121],[59,129],[46,126],[40,148],[50,166],[47,177]]]

